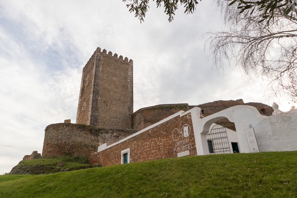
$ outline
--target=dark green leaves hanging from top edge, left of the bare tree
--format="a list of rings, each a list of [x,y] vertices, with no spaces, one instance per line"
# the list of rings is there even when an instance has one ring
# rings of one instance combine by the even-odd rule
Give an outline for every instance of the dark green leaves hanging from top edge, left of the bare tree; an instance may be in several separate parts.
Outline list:
[[[144,20],[146,12],[149,9],[149,0],[122,0],[124,3],[127,3],[126,6],[129,8],[129,12],[134,12],[135,17],[140,19],[140,22]],[[155,1],[155,0],[153,0]],[[199,0],[198,0],[199,1]],[[181,5],[184,5],[184,13],[193,13],[195,10],[197,0],[156,0],[157,7],[161,7],[162,3],[165,8],[166,15],[169,16],[168,20],[171,22],[175,11],[178,8],[178,2]],[[201,0],[200,0],[201,1]]]

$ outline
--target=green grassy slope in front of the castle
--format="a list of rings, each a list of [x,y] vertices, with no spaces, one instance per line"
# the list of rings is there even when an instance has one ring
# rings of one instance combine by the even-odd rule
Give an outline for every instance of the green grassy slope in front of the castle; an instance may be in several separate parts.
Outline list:
[[[186,156],[1,175],[0,197],[297,197],[297,151]]]

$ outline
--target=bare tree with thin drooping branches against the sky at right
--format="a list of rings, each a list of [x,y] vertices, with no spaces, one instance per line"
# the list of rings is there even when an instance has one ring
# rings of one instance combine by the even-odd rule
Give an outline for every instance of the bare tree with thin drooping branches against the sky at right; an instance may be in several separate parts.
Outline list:
[[[284,91],[297,99],[297,12],[284,15],[274,9],[269,23],[261,22],[263,10],[246,14],[238,5],[217,1],[227,31],[208,32],[210,58],[224,71],[225,62],[236,64],[246,75],[269,80],[274,93]]]

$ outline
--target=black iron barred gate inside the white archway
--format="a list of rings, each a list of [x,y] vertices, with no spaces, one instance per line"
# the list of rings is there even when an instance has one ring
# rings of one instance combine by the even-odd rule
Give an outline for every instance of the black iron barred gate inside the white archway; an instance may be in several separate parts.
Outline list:
[[[220,126],[217,124],[212,127],[210,133],[206,135],[206,138],[209,153],[231,153],[225,125]]]

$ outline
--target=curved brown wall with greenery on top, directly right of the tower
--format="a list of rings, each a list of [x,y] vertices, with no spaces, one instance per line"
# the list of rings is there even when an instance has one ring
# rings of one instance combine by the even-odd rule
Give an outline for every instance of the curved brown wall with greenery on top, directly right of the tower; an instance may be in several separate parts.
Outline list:
[[[189,104],[160,104],[137,110],[132,115],[132,129],[142,130],[181,110],[189,110]]]

